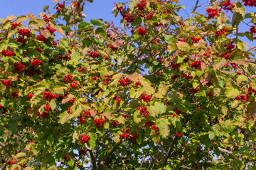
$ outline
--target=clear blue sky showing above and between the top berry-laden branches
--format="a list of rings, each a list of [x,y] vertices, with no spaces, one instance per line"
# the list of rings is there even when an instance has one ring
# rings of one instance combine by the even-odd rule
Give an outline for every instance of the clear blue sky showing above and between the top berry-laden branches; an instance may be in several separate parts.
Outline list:
[[[90,21],[91,18],[97,19],[102,18],[104,21],[114,21],[115,26],[121,26],[119,24],[120,15],[117,18],[112,16],[112,8],[114,3],[119,1],[126,2],[128,0],[95,0],[93,3],[87,2],[87,5],[84,8],[84,13],[88,16],[85,18],[85,21]],[[208,0],[200,0],[198,5],[201,5]],[[186,12],[190,15],[193,6],[196,4],[196,0],[179,0],[178,4],[186,6]],[[50,11],[55,13],[55,3],[52,0],[1,0],[0,6],[0,18],[6,18],[6,16],[20,16],[26,15],[29,11],[32,14],[38,16],[41,13],[43,6],[49,5]],[[247,11],[254,12],[255,8],[245,7]],[[183,18],[188,18],[187,14],[183,9],[181,9],[179,15]],[[206,6],[197,9],[198,13],[206,14]],[[231,16],[230,11],[227,12],[228,16]],[[244,24],[241,25],[240,30],[249,30],[249,27]],[[244,42],[249,42],[246,39],[243,39]],[[252,42],[249,42],[250,46],[253,46]]]

